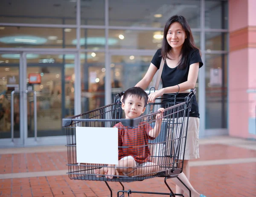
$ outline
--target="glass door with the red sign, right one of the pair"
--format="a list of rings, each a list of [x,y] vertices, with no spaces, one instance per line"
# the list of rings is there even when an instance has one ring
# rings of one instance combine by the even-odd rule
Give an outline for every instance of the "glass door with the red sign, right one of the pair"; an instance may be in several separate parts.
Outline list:
[[[66,141],[62,119],[74,115],[74,59],[26,54],[26,145]]]

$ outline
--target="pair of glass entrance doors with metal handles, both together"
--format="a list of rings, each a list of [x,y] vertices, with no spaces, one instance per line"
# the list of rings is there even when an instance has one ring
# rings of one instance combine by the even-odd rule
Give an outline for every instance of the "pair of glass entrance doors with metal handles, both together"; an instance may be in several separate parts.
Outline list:
[[[74,115],[74,54],[0,52],[0,147],[64,144]]]

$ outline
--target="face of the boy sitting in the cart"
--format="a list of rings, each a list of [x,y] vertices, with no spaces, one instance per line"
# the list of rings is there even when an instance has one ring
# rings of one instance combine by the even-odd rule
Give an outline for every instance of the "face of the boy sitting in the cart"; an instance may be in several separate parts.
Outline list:
[[[126,119],[134,119],[139,117],[146,109],[145,101],[138,96],[129,95],[125,99],[125,103],[122,103],[122,109],[125,110]]]

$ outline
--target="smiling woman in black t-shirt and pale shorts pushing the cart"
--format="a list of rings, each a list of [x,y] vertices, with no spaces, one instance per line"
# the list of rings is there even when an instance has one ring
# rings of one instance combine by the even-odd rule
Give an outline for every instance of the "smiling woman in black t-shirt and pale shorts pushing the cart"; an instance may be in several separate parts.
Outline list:
[[[203,66],[203,62],[185,17],[175,15],[167,20],[163,32],[163,46],[157,50],[145,76],[135,86],[144,90],[148,87],[160,67],[162,58],[165,60],[161,77],[163,88],[151,93],[148,96],[149,102],[154,102],[164,93],[195,88],[198,71]],[[178,97],[186,95],[180,93]],[[168,102],[166,99],[165,101]],[[183,172],[189,180],[189,160],[199,158],[199,112],[195,96],[192,99],[188,121]],[[176,185],[176,193],[184,194],[184,191]]]

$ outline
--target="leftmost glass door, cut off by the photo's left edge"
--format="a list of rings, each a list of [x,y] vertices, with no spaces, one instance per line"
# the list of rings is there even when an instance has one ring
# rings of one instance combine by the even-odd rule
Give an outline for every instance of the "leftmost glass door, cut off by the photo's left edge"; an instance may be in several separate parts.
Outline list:
[[[0,147],[23,145],[20,54],[0,52]]]

